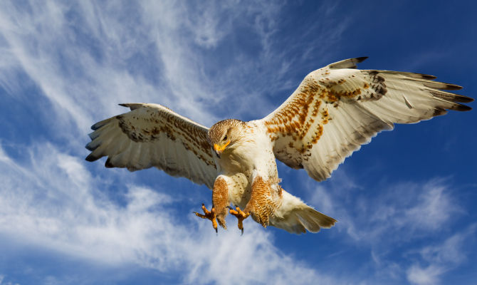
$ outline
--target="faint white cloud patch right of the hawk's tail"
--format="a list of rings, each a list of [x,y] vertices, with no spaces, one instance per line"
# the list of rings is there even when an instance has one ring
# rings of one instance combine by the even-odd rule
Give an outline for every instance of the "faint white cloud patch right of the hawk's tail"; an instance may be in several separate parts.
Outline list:
[[[338,228],[346,230],[356,241],[409,242],[431,232],[445,231],[445,224],[463,214],[444,179],[362,190],[344,170],[335,173],[328,187],[316,187],[311,201],[338,221],[343,220]],[[373,194],[369,195],[371,191]]]

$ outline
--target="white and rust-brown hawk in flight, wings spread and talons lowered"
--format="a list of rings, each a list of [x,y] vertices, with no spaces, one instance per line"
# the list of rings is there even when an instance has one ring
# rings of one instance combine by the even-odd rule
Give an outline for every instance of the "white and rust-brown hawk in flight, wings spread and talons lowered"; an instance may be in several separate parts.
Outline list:
[[[120,104],[130,112],[95,123],[88,161],[130,171],[157,167],[212,190],[204,214],[217,231],[225,217],[249,215],[263,227],[318,232],[336,220],[280,186],[276,159],[323,181],[346,157],[394,123],[417,123],[447,110],[471,110],[460,86],[420,73],[356,69],[366,57],[311,72],[285,102],[261,120],[229,119],[206,128],[158,104]],[[235,208],[230,207],[233,204]]]

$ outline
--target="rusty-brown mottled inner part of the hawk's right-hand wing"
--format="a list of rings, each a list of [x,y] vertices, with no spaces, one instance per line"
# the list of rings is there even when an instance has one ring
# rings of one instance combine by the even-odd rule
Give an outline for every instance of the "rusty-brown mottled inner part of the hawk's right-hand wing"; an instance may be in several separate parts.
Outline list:
[[[321,72],[323,76],[330,76],[329,70]],[[360,88],[347,90],[346,83],[345,79],[325,77],[321,80],[310,74],[273,116],[264,119],[270,139],[280,140],[275,143],[274,152],[286,165],[303,168],[303,160],[310,157],[310,150],[323,135],[324,125],[332,120],[328,108],[337,108],[345,98],[366,94]],[[380,85],[382,83],[376,83],[375,87]]]

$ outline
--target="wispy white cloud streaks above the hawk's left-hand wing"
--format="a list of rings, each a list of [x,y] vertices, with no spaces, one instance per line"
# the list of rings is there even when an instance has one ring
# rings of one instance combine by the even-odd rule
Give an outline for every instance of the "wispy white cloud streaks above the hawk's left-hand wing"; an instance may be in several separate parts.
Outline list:
[[[300,44],[291,44],[287,54],[273,37],[280,13],[273,3],[2,2],[0,84],[17,97],[19,76],[31,78],[52,103],[41,120],[70,130],[58,132],[59,138],[77,138],[95,120],[124,112],[116,105],[124,102],[162,103],[204,125],[224,115],[258,118],[281,103],[264,95],[298,86],[301,78],[290,80],[296,69],[290,62],[305,61],[293,53]],[[323,12],[303,37],[319,28],[332,43],[344,27],[335,24]],[[224,51],[237,26],[256,38],[253,56]],[[325,50],[322,40],[307,39],[312,58]],[[214,54],[219,51],[221,61]]]

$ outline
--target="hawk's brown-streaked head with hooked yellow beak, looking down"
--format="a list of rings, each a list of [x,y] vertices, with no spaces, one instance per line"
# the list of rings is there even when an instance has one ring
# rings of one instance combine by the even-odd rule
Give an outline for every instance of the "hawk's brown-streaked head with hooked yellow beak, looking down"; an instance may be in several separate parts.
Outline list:
[[[209,144],[217,157],[220,157],[225,150],[231,149],[241,139],[243,124],[241,120],[221,120],[209,129]]]

